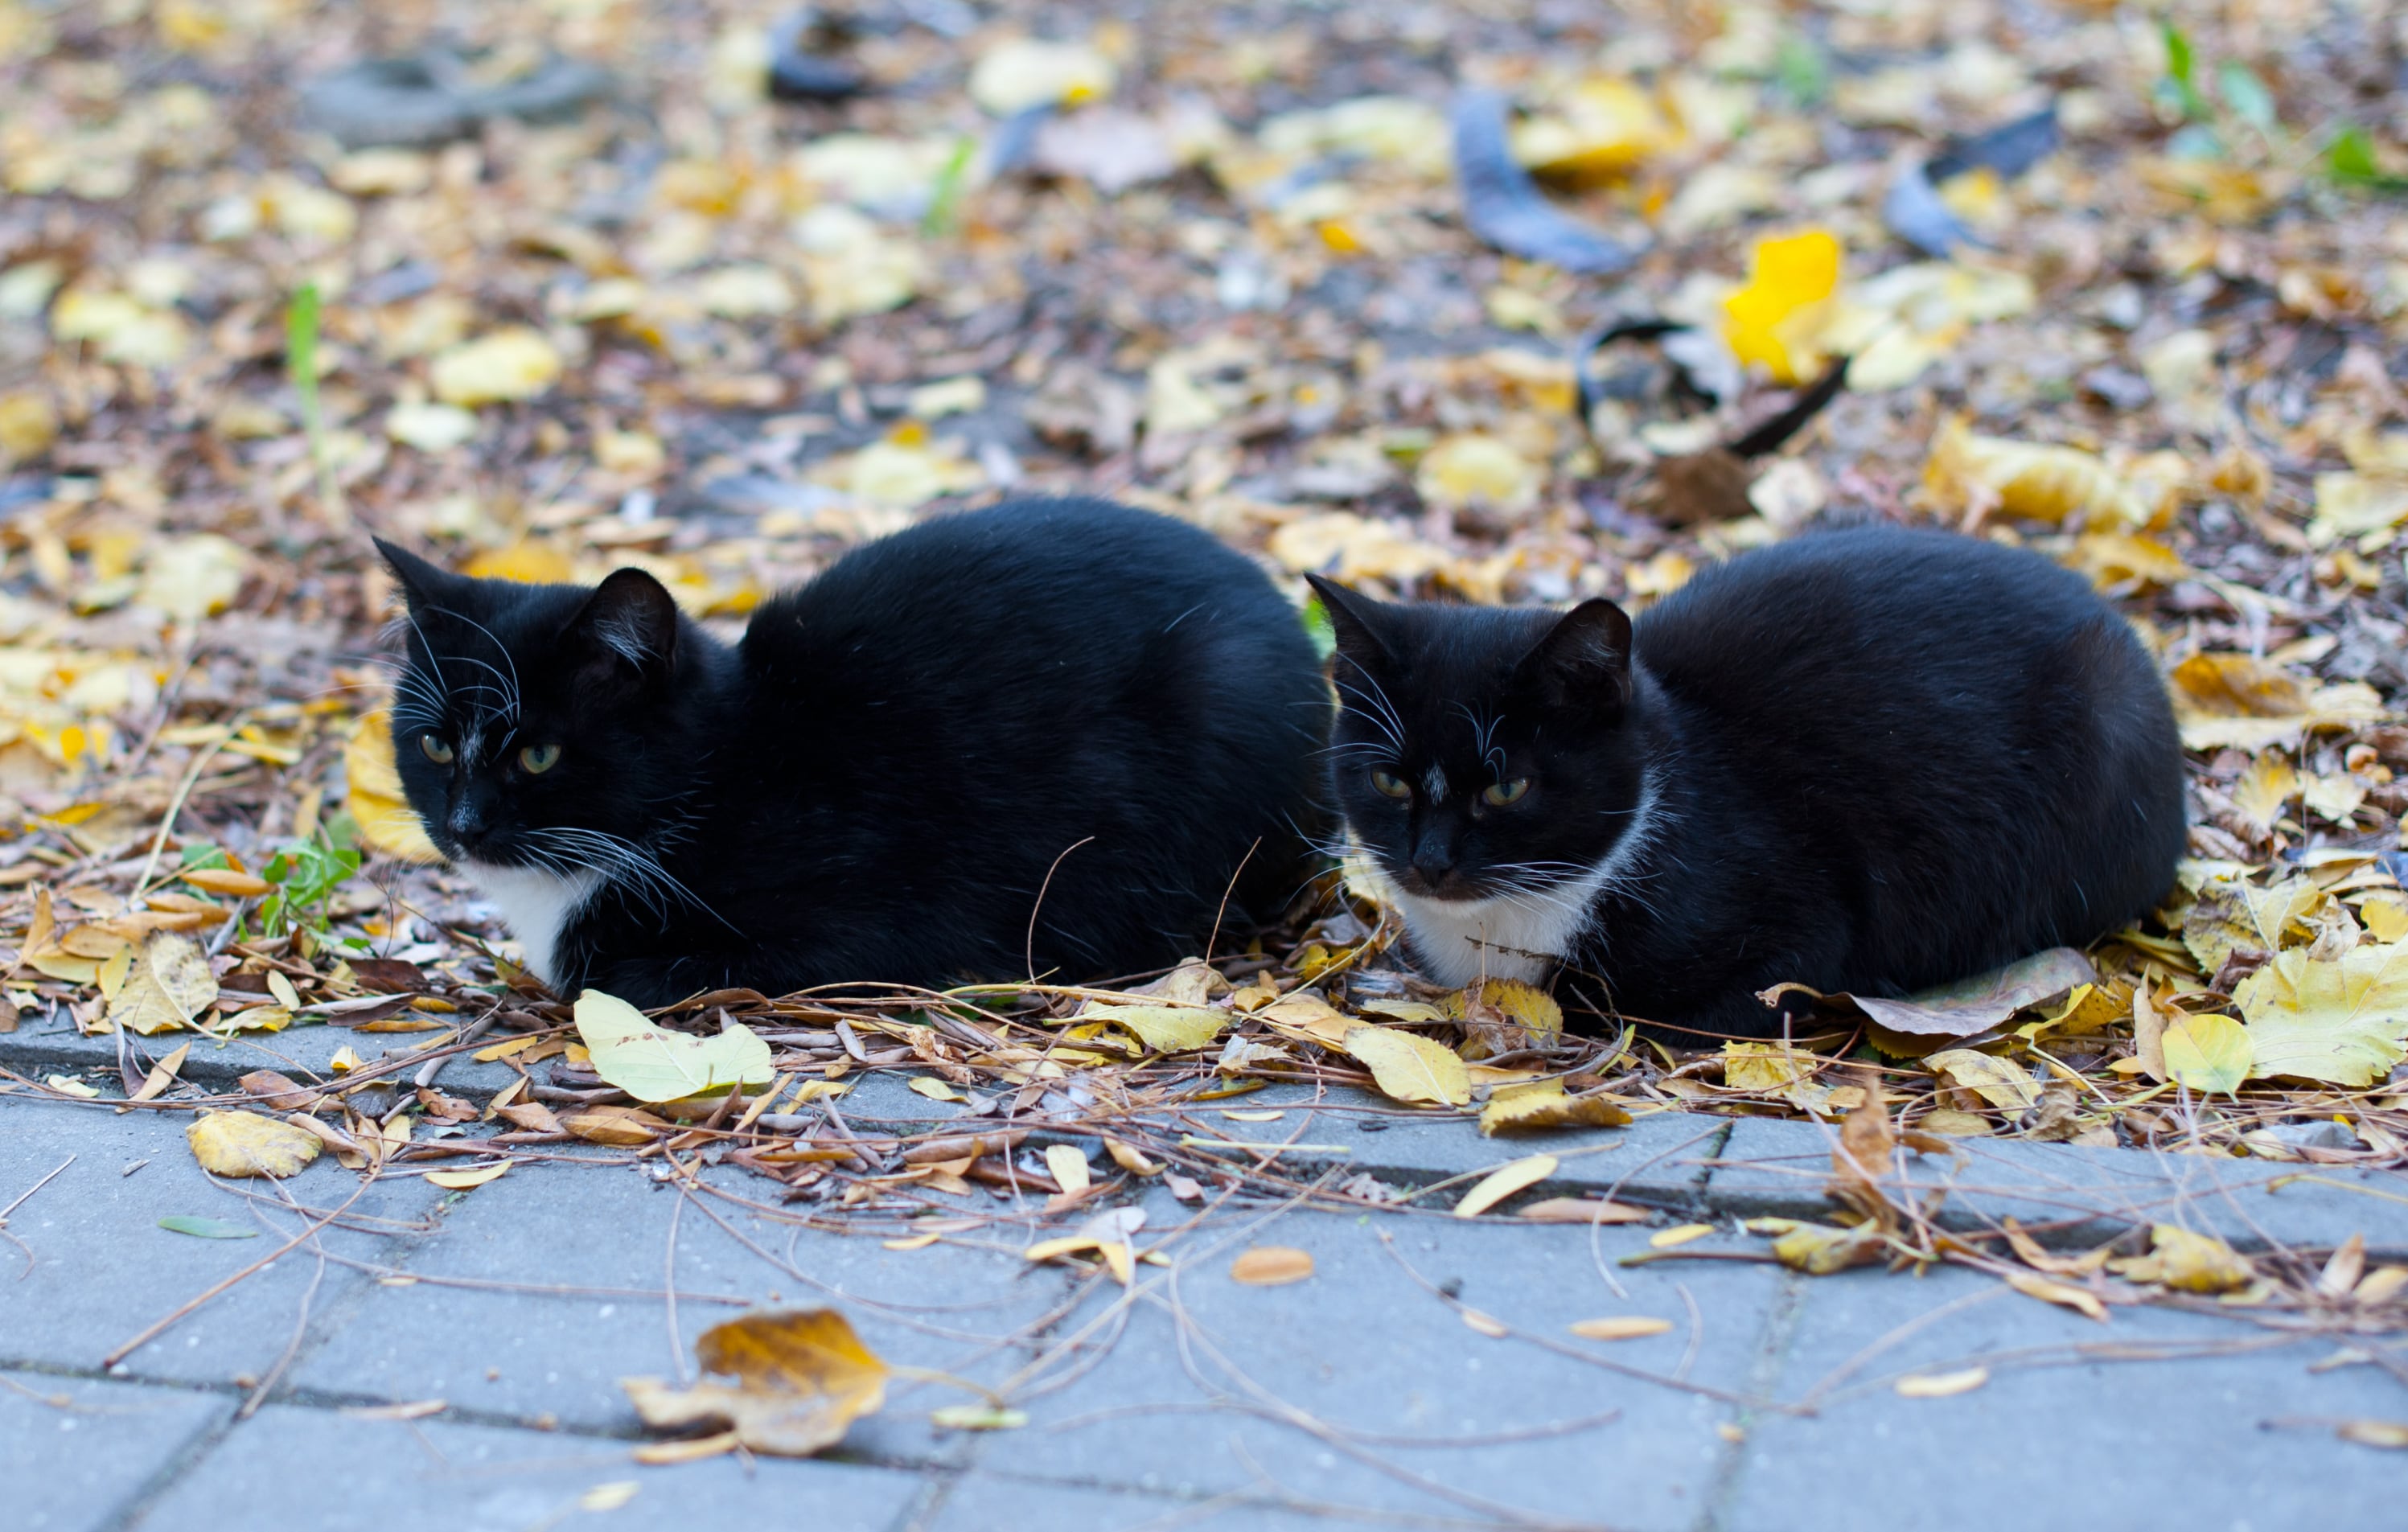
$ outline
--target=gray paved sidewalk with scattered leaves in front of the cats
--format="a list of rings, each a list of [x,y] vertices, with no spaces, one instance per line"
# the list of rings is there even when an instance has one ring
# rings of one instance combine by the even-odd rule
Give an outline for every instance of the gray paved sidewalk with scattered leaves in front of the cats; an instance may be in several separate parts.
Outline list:
[[[877,1120],[881,1103],[929,1115],[901,1089],[864,1086],[848,1106]],[[1279,1098],[1247,1101],[1259,1103]],[[1197,1224],[1163,1190],[1141,1197],[1141,1243],[1180,1231],[1173,1265],[1139,1267],[1125,1294],[1084,1269],[1033,1267],[997,1233],[886,1250],[804,1231],[766,1202],[768,1183],[732,1171],[706,1173],[701,1192],[653,1166],[520,1166],[472,1192],[395,1175],[349,1204],[349,1226],[106,1368],[113,1349],[299,1233],[287,1197],[330,1209],[359,1188],[327,1161],[282,1185],[212,1185],[185,1120],[0,1096],[0,1204],[72,1156],[7,1219],[22,1248],[0,1243],[10,1527],[385,1532],[407,1518],[523,1532],[785,1518],[970,1532],[1370,1518],[1787,1532],[1943,1518],[1963,1530],[2276,1532],[2398,1518],[2401,1457],[2338,1440],[2331,1421],[2408,1419],[2408,1390],[2350,1363],[2345,1337],[2136,1308],[2100,1325],[1963,1269],[1618,1267],[1647,1248],[1647,1226],[1274,1204]],[[1332,1144],[1322,1163],[1394,1185],[1529,1151],[1466,1123],[1365,1132],[1363,1120],[1298,1103],[1279,1123],[1228,1130]],[[1544,1147],[1565,1156],[1553,1190],[1618,1185],[1671,1209],[1664,1221],[1727,1228],[1739,1212],[1823,1209],[1820,1144],[1813,1125],[1666,1115]],[[1953,1204],[2056,1219],[2064,1238],[2172,1214],[2259,1248],[2362,1231],[2377,1250],[2408,1250],[2408,1204],[2350,1190],[2408,1195],[2398,1175],[2266,1190],[2273,1166],[2167,1159],[2196,1163],[1975,1144]],[[157,1226],[169,1214],[260,1236],[169,1233]],[[1315,1274],[1240,1286],[1228,1265],[1252,1243],[1300,1245]],[[1688,1250],[1760,1253],[1763,1241],[1717,1233]],[[968,1395],[896,1383],[886,1409],[821,1460],[633,1462],[641,1428],[616,1380],[677,1375],[703,1327],[754,1303],[836,1303],[889,1361],[990,1385],[1040,1354],[1050,1366],[1014,1392],[1028,1412],[1019,1431],[934,1431],[927,1412]],[[1565,1330],[1599,1315],[1674,1327],[1611,1344]],[[1069,1337],[1081,1344],[1062,1351]],[[1890,1387],[1975,1361],[1991,1378],[1965,1395]]]

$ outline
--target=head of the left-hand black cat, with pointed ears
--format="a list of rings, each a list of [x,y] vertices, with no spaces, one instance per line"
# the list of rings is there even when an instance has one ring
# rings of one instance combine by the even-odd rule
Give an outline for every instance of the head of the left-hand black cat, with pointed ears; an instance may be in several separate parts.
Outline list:
[[[378,549],[409,605],[393,756],[436,848],[563,877],[636,858],[677,795],[669,593],[636,568],[518,585]]]

